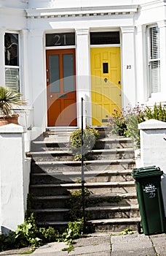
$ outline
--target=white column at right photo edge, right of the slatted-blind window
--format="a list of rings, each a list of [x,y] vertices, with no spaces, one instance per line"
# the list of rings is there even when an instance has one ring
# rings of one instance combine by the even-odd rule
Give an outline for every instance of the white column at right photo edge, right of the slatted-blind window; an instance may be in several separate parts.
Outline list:
[[[158,22],[159,26],[159,51],[160,51],[160,78],[161,78],[161,101],[165,102],[166,94],[166,20]]]

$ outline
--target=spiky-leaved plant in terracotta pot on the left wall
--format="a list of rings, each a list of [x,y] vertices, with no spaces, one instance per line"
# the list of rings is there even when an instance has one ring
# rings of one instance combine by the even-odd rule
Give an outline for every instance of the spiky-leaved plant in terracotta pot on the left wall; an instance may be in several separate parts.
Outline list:
[[[20,92],[0,86],[0,126],[11,123],[18,124],[18,115],[14,108],[20,105],[26,105]]]

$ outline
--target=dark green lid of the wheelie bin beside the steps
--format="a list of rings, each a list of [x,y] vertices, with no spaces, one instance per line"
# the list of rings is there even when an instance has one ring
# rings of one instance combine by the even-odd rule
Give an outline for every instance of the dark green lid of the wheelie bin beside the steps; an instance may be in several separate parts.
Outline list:
[[[163,171],[155,165],[133,169],[133,178],[135,179],[149,176],[162,176],[162,174]]]

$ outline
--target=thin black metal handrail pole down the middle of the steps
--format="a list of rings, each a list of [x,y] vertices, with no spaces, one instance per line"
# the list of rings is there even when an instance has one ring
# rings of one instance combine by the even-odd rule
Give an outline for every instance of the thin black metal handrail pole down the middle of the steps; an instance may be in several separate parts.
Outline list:
[[[84,213],[84,127],[83,127],[83,101],[82,98],[82,210],[83,210],[83,219],[84,219],[84,233],[86,230],[86,219],[85,219],[85,213]]]

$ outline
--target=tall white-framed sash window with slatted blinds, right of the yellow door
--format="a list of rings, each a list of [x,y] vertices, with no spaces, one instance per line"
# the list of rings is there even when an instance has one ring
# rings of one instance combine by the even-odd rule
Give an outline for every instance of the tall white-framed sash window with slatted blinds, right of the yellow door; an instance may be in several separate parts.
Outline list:
[[[151,26],[149,32],[149,87],[150,95],[160,91],[159,28]]]

